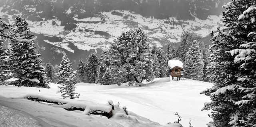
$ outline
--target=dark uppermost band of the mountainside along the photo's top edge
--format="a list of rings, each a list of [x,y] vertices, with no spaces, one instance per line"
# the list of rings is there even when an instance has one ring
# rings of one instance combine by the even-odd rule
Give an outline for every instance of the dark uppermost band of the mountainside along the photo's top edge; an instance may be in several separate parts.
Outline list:
[[[112,10],[130,10],[144,17],[157,19],[194,20],[194,16],[206,20],[209,15],[219,15],[222,5],[230,0],[0,0],[2,12],[14,15],[22,13],[23,18],[40,21],[58,19],[76,21],[78,19],[97,17],[101,12]],[[66,14],[67,10],[71,13]],[[194,16],[193,16],[194,15]]]

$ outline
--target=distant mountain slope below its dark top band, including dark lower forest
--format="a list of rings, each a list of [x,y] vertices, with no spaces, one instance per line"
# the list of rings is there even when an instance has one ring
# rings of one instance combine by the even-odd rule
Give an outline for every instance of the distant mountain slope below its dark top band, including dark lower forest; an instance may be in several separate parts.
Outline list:
[[[0,10],[3,8],[0,7]],[[100,56],[101,51],[108,49],[110,42],[113,42],[122,32],[132,28],[141,27],[148,35],[148,42],[158,47],[165,47],[167,44],[179,42],[184,30],[189,30],[200,36],[208,35],[216,30],[220,22],[220,16],[209,16],[207,20],[159,20],[154,17],[146,18],[134,12],[116,10],[123,16],[102,12],[99,17],[78,19],[75,30],[64,30],[61,21],[55,19],[45,21],[28,20],[30,30],[37,36],[36,46],[39,48],[44,63],[52,65],[60,64],[62,56],[67,55],[73,63],[72,68],[76,69],[76,62],[86,61],[92,52]],[[7,12],[0,12],[12,21],[12,16]],[[129,18],[125,18],[129,16]],[[52,22],[56,22],[55,25]],[[47,43],[47,44],[46,44]],[[69,46],[72,44],[73,46]]]

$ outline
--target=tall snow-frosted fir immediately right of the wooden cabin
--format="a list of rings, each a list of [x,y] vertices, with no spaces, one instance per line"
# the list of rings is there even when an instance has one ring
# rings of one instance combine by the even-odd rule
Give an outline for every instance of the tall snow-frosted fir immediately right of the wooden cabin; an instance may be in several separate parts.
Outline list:
[[[184,68],[186,70],[186,77],[188,79],[201,80],[203,77],[204,63],[202,54],[200,53],[200,46],[197,40],[190,44],[190,48],[186,53]]]

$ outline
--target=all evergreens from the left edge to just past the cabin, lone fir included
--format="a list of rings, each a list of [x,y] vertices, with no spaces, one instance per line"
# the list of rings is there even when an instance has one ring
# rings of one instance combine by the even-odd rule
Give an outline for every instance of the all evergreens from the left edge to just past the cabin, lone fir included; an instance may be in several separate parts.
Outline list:
[[[171,59],[185,62],[185,68],[191,73],[188,77],[201,80],[206,63],[202,59],[202,52],[207,53],[207,50],[203,50],[202,42],[192,41],[191,33],[184,32],[182,45],[177,50],[168,45],[165,53],[162,48],[150,47],[145,32],[137,28],[123,32],[110,44],[109,50],[102,52],[99,60],[94,53],[90,54],[86,63],[80,60],[74,73],[70,60],[65,56],[58,68],[50,63],[42,66],[40,54],[34,47],[36,38],[30,35],[28,23],[23,18],[17,17],[13,26],[6,26],[1,21],[1,26],[1,37],[10,39],[11,47],[5,50],[3,41],[0,42],[0,81],[8,79],[12,73],[14,78],[18,78],[13,82],[16,86],[48,87],[48,81],[60,83],[63,85],[60,92],[64,98],[79,97],[74,93],[77,82],[104,85],[128,82],[128,86],[141,86],[142,80],[166,77],[166,65]],[[5,35],[5,29],[9,29],[10,34]],[[58,74],[56,69],[59,69]]]

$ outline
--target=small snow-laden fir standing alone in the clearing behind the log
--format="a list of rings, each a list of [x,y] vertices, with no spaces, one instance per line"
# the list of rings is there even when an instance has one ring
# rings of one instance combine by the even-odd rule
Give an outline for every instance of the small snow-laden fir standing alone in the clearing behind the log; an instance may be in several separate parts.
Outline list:
[[[59,91],[61,96],[65,99],[69,97],[70,99],[79,98],[80,94],[75,93],[76,88],[76,81],[75,81],[75,74],[73,72],[73,69],[71,68],[71,63],[66,56],[63,56],[61,63],[59,65],[59,72],[58,77],[60,78],[60,84],[62,86],[59,87]]]

